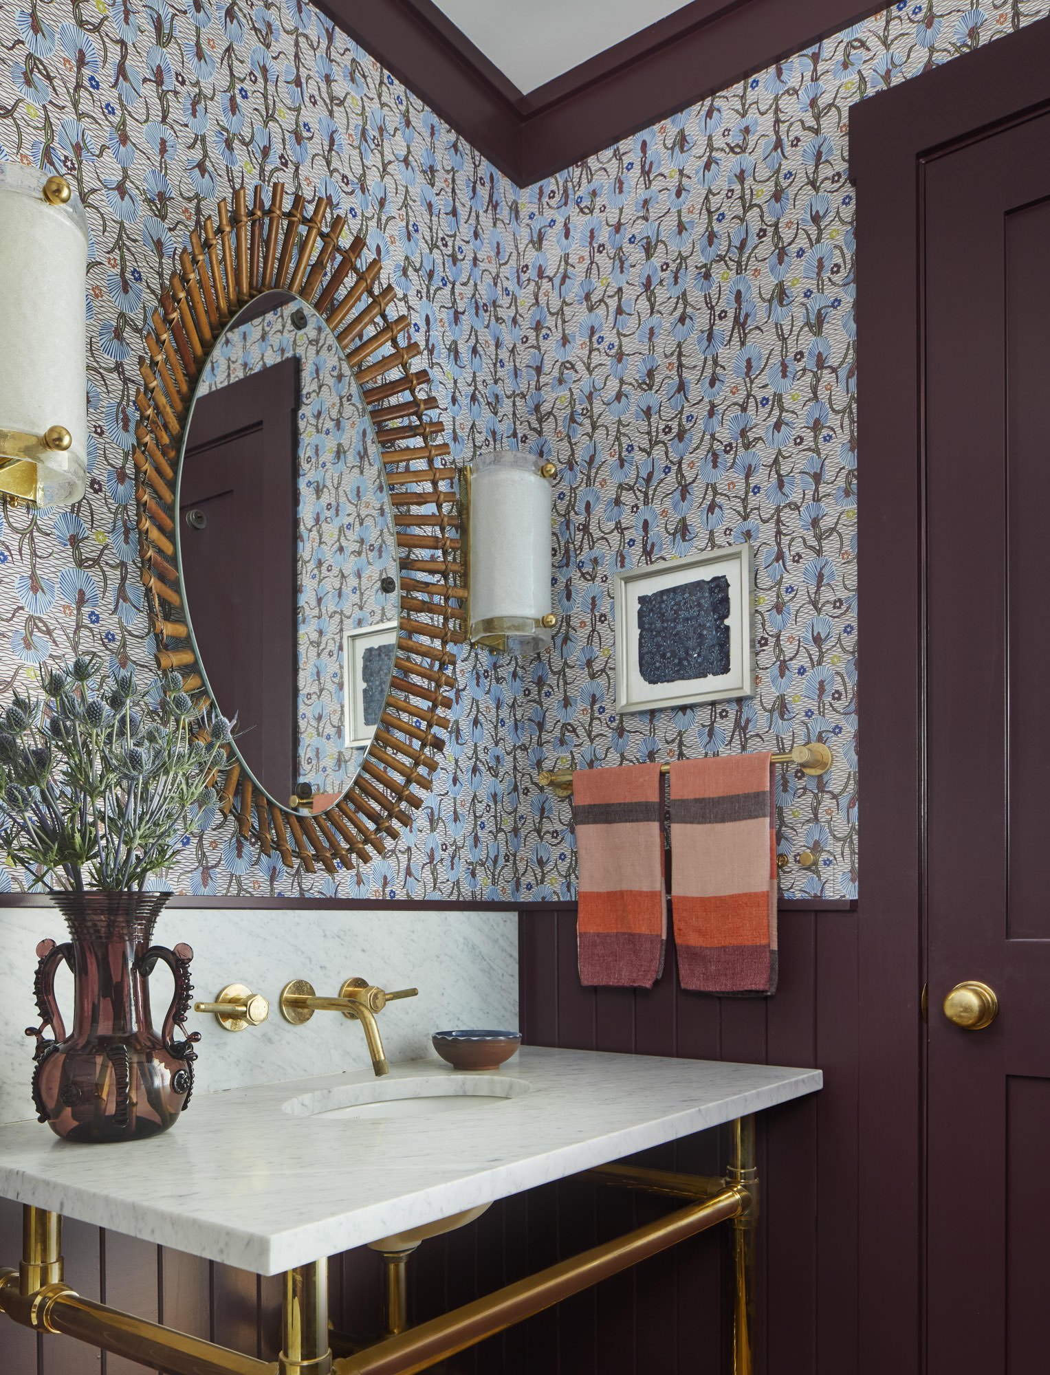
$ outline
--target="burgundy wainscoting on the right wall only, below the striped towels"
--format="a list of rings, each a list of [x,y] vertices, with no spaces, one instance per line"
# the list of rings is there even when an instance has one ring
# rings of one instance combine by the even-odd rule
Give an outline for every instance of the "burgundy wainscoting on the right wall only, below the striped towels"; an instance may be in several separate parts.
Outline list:
[[[820,1093],[759,1115],[761,1225],[756,1371],[844,1375],[858,1330],[858,914],[849,902],[782,902],[779,987],[772,998],[713,998],[679,989],[673,942],[654,989],[584,989],[576,908],[522,913],[521,1024],[529,1045],[700,1060],[815,1066]],[[722,1173],[726,1138],[701,1133],[638,1159]],[[568,1181],[518,1204],[537,1264],[616,1235],[656,1200]],[[636,1210],[636,1211],[635,1211]],[[539,1251],[543,1250],[540,1255]],[[577,1295],[520,1330],[530,1360],[509,1372],[722,1375],[728,1370],[726,1239],[694,1238]],[[489,1375],[499,1367],[478,1367]]]

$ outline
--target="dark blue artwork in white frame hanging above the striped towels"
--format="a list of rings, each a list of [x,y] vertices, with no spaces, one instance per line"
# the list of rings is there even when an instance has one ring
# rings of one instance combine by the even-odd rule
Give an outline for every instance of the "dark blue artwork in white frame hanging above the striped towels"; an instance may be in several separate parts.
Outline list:
[[[755,692],[750,544],[616,575],[616,710]]]

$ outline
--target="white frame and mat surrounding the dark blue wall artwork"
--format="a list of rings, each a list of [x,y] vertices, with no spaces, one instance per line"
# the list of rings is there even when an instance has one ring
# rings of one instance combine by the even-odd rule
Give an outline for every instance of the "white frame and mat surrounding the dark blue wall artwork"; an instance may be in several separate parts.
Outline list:
[[[709,583],[726,578],[728,593],[728,613],[724,624],[728,627],[728,668],[726,672],[705,671],[690,678],[665,678],[673,670],[673,656],[667,664],[653,668],[639,664],[639,642],[643,634],[649,638],[658,634],[653,630],[657,612],[642,605],[643,597],[665,593],[671,588],[694,583]],[[723,595],[722,588],[705,595]],[[730,549],[708,549],[686,558],[671,558],[661,564],[643,568],[628,568],[616,575],[613,588],[616,613],[616,710],[658,711],[667,707],[694,705],[704,701],[723,701],[727,697],[750,697],[755,693],[755,576],[750,543],[733,544]],[[639,624],[639,613],[647,627]],[[664,630],[664,642],[667,631]],[[651,648],[643,646],[646,664],[653,663]],[[694,661],[702,661],[705,654],[713,654],[722,661],[726,645],[697,642],[687,650]],[[645,670],[645,671],[643,671]],[[649,676],[646,676],[646,672]]]

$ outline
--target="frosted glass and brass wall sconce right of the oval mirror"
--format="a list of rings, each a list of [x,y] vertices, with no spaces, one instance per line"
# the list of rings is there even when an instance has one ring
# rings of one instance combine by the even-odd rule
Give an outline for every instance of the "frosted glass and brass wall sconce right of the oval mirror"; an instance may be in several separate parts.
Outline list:
[[[517,448],[478,454],[462,473],[467,546],[467,638],[530,654],[557,624],[551,610],[554,463]]]

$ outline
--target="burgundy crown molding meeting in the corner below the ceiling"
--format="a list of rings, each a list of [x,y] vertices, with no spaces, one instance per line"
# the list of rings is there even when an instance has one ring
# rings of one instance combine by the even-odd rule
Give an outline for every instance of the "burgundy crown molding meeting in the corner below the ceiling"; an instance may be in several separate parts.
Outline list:
[[[528,187],[875,14],[885,0],[691,0],[528,95],[433,0],[320,7],[515,186]]]

